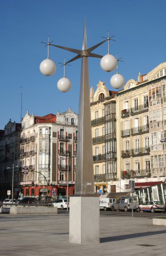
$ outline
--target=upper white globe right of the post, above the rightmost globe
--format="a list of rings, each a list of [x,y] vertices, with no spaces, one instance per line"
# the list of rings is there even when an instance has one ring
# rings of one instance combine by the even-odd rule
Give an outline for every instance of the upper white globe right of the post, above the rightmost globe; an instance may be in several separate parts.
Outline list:
[[[117,60],[111,54],[106,54],[100,60],[101,69],[107,72],[111,72],[116,68]]]

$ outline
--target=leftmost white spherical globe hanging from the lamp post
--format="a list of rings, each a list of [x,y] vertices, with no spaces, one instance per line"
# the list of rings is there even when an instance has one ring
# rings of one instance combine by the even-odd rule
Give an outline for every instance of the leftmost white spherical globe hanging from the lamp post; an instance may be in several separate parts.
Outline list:
[[[51,76],[56,72],[56,64],[51,59],[44,59],[39,66],[40,72],[44,76]]]

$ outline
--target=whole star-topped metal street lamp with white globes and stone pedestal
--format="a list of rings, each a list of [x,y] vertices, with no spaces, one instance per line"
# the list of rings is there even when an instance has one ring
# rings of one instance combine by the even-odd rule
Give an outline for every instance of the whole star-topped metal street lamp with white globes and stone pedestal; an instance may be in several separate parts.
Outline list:
[[[57,46],[44,43],[48,46],[48,58],[44,59],[40,64],[40,71],[46,76],[50,76],[56,71],[56,65],[49,59],[49,46],[68,50],[77,55],[70,59],[65,65],[76,60],[82,59],[81,79],[79,92],[79,126],[78,126],[78,147],[77,147],[77,165],[75,173],[75,194],[70,200],[70,242],[99,242],[99,199],[94,192],[94,176],[93,176],[93,153],[92,153],[92,126],[91,126],[91,108],[89,97],[89,72],[88,57],[100,58],[100,66],[103,70],[110,72],[116,68],[117,60],[113,55],[108,54],[104,57],[92,53],[98,46],[108,41],[111,37],[106,37],[99,44],[87,48],[86,25],[84,23],[83,47],[82,50]],[[60,81],[61,80],[61,81]],[[71,84],[65,77],[58,81],[58,89],[60,91],[69,91]],[[114,86],[114,85],[113,85]],[[116,88],[123,86],[122,79],[116,78]],[[93,204],[93,207],[91,207]],[[88,219],[88,221],[87,221]],[[92,220],[92,221],[90,221]],[[96,225],[94,225],[96,222]],[[79,228],[78,228],[79,227]]]

